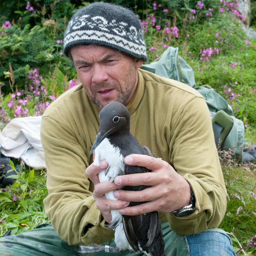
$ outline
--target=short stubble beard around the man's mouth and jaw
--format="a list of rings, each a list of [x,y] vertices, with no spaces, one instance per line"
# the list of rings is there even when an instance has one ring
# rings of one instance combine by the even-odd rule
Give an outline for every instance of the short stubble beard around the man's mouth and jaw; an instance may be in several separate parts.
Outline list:
[[[114,86],[114,87],[113,87],[113,84],[110,84],[110,83],[105,83],[105,84],[103,84],[103,86],[97,84],[93,88],[94,94],[96,94],[96,92],[101,88],[106,88],[106,89],[114,88],[118,92],[117,99],[115,101],[124,104],[129,99],[129,97],[132,93],[132,90],[133,90],[134,86],[136,85],[136,80],[137,80],[136,68],[132,65],[132,63],[130,65],[128,74],[129,74],[129,76],[126,76],[123,78],[124,88],[120,87],[119,84],[116,84],[117,86]],[[104,104],[104,103],[100,102],[100,100],[96,99],[96,95],[90,94],[85,86],[84,86],[84,90],[85,90],[88,98],[100,109],[104,108],[108,103],[110,103],[112,101],[112,100],[108,100],[108,98],[106,98],[104,100],[104,102],[105,102],[105,104]]]

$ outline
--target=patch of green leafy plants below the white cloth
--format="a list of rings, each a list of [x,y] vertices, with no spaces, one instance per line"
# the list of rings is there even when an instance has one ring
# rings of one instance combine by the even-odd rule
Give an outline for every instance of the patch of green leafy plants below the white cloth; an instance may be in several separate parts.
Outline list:
[[[0,237],[11,229],[11,234],[20,234],[41,223],[49,223],[44,213],[43,200],[47,195],[45,171],[34,171],[20,166],[14,166],[10,160],[15,175],[12,186],[0,189]],[[1,222],[1,220],[5,220]]]

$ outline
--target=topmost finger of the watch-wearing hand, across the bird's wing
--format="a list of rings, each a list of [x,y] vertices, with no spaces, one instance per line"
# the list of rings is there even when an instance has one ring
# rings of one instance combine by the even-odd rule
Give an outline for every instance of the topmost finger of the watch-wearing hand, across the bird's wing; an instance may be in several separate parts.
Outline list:
[[[148,170],[158,170],[163,167],[165,163],[162,159],[152,156],[132,154],[124,158],[125,164],[144,166]]]

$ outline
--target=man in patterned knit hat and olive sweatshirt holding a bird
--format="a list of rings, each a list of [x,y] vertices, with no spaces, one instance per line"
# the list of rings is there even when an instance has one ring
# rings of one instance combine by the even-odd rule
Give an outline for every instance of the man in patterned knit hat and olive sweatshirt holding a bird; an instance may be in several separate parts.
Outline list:
[[[15,242],[4,239],[0,250],[80,255],[78,245],[114,246],[114,232],[105,224],[112,220],[110,211],[119,210],[125,215],[158,211],[168,255],[236,255],[229,237],[217,228],[226,211],[226,189],[205,100],[185,84],[139,69],[147,56],[138,18],[112,4],[84,7],[68,24],[64,53],[82,85],[61,95],[42,118],[49,192],[44,204],[52,226],[25,232]],[[89,153],[100,109],[112,101],[128,108],[131,133],[162,159],[127,156],[126,164],[152,172],[100,183],[98,173],[108,164],[94,166]],[[104,196],[125,185],[151,187],[118,190],[117,201]],[[130,201],[146,203],[129,207]],[[180,216],[188,205],[188,215]]]

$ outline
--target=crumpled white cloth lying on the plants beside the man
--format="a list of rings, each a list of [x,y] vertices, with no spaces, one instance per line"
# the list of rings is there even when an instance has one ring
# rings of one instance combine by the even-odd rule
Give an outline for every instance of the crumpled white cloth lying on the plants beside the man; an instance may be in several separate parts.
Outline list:
[[[21,158],[34,169],[45,168],[40,138],[42,116],[14,118],[0,132],[1,153]]]

